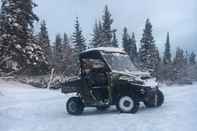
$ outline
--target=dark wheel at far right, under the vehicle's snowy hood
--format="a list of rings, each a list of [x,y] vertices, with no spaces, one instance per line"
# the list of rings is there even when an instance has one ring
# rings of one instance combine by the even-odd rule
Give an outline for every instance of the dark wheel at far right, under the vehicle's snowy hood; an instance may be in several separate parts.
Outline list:
[[[149,94],[147,99],[144,101],[146,107],[159,107],[164,102],[164,95],[160,90]]]

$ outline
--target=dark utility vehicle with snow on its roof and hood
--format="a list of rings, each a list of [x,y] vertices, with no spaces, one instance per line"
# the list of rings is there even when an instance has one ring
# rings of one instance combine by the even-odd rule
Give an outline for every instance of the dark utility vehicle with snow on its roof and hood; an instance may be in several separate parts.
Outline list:
[[[63,93],[76,93],[69,98],[67,112],[79,115],[84,107],[103,111],[115,105],[123,113],[136,113],[140,102],[146,107],[159,107],[163,93],[150,73],[140,71],[120,48],[100,47],[79,56],[80,75],[70,78]]]

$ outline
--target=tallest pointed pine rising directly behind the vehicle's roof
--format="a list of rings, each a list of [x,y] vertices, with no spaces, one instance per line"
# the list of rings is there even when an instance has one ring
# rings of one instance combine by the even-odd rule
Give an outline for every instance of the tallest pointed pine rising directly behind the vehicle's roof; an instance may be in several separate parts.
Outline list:
[[[112,37],[114,30],[111,29],[111,25],[113,23],[113,19],[111,18],[111,13],[108,9],[108,6],[105,6],[104,15],[102,17],[103,19],[103,29],[102,29],[102,37],[103,37],[103,43],[101,46],[105,47],[112,47]]]

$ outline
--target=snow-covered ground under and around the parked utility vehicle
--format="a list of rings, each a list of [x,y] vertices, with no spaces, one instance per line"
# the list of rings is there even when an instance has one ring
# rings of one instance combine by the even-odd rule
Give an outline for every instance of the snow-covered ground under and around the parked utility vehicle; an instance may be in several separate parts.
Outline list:
[[[72,116],[60,91],[0,80],[0,131],[197,131],[197,84],[162,90],[160,108],[142,106],[137,114],[89,108]]]

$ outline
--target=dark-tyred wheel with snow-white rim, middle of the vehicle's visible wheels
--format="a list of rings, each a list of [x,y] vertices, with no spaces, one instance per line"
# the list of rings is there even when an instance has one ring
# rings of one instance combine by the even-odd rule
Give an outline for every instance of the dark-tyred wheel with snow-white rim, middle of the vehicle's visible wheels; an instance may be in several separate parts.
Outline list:
[[[139,103],[131,96],[121,96],[116,107],[122,113],[136,113],[139,109]]]

